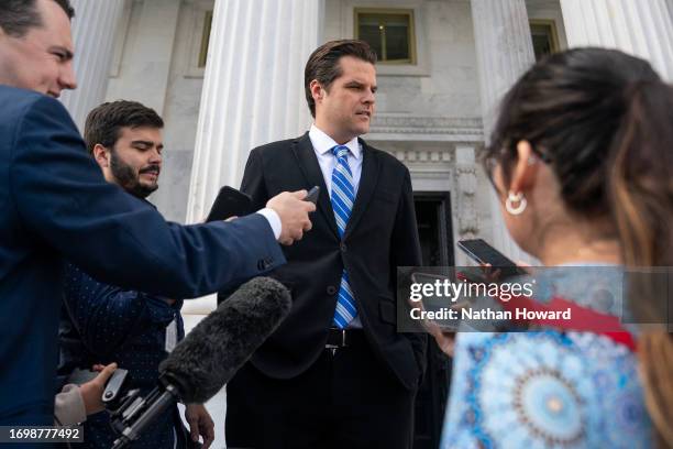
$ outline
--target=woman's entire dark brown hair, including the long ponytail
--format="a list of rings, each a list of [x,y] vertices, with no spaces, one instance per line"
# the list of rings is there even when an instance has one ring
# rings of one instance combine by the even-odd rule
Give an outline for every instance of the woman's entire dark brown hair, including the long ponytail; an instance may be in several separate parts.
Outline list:
[[[649,63],[604,48],[540,61],[505,97],[484,153],[506,184],[521,140],[550,165],[570,210],[611,219],[626,266],[673,265],[673,87]],[[636,281],[630,308],[652,322],[660,298]],[[643,328],[638,349],[657,437],[673,446],[673,339]]]

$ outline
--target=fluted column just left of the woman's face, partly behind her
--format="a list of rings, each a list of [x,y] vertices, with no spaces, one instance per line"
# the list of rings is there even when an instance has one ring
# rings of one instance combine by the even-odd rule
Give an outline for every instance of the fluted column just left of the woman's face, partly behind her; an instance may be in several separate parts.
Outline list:
[[[536,58],[525,0],[472,0],[471,6],[484,135],[488,143],[503,96]],[[490,206],[493,244],[514,260],[530,261],[509,237],[495,194]]]

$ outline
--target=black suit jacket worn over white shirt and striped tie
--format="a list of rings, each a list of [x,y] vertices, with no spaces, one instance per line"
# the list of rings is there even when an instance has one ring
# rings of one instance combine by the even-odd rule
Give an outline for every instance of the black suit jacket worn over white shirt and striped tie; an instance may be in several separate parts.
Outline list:
[[[296,376],[323,351],[344,266],[374,352],[406,387],[422,376],[426,337],[396,331],[397,266],[421,264],[409,171],[361,143],[362,177],[343,241],[308,133],[254,149],[247,160],[241,189],[255,207],[283,190],[321,188],[313,229],[284,249],[288,263],[273,274],[290,287],[294,305],[252,359],[268,376]]]

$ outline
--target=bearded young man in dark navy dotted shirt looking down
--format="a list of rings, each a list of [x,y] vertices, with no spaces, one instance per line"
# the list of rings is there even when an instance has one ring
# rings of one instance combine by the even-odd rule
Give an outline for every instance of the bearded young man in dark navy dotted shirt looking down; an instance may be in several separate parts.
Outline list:
[[[139,102],[107,102],[89,113],[85,143],[109,183],[145,201],[158,188],[163,127],[162,118]],[[158,364],[185,337],[183,300],[100,283],[71,263],[66,265],[64,287],[58,373],[115,361],[129,370],[129,387],[146,394],[156,386]],[[208,448],[214,424],[203,405],[186,404],[185,418],[192,441],[198,441],[200,431]],[[84,448],[107,449],[117,438],[106,412],[89,416],[84,430]],[[176,406],[132,447],[185,448],[184,434]]]

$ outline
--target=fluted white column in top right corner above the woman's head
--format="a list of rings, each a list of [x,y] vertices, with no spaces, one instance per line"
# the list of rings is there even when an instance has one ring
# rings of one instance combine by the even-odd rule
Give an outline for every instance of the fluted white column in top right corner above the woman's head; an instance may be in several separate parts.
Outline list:
[[[570,47],[619,48],[673,81],[671,0],[561,0]]]

